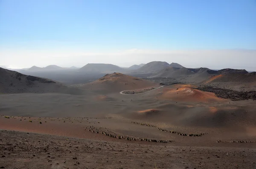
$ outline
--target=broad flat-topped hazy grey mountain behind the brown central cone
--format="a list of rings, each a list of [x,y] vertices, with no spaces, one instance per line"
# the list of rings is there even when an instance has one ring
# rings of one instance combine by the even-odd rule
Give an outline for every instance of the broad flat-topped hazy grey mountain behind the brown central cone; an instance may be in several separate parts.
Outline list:
[[[93,72],[93,73],[113,73],[113,72],[122,72],[125,69],[120,68],[112,64],[103,64],[103,63],[88,63],[84,67],[79,69],[84,72]]]

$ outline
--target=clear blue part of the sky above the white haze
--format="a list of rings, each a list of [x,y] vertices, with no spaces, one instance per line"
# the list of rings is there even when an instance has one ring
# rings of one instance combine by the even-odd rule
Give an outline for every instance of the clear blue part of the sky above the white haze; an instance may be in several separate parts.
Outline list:
[[[0,0],[1,58],[131,49],[256,50],[256,0]]]

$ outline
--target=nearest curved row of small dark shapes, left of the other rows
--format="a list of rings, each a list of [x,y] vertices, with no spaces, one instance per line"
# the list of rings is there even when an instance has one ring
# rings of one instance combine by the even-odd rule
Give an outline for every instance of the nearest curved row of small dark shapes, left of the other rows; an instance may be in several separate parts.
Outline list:
[[[86,127],[88,128],[88,130],[90,132],[95,132],[95,133],[102,133],[104,135],[113,137],[113,138],[118,138],[118,139],[126,139],[128,141],[148,141],[148,142],[159,142],[159,143],[170,143],[173,142],[172,140],[161,140],[161,139],[149,139],[149,138],[137,138],[137,137],[131,137],[131,136],[127,136],[127,135],[118,135],[110,130],[108,130],[107,128],[105,128],[104,131],[102,130],[102,127],[96,128],[94,126],[90,126],[90,127]]]

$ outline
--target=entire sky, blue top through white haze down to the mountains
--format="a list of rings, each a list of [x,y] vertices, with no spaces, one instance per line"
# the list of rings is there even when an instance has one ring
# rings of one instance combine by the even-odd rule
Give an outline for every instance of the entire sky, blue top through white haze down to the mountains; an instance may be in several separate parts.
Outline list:
[[[256,0],[0,0],[0,65],[256,70]]]

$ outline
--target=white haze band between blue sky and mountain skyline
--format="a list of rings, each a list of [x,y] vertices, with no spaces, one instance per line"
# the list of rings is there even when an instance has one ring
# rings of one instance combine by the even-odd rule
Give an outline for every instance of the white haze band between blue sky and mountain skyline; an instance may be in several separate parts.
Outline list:
[[[0,65],[8,65],[9,68],[30,68],[33,65],[82,67],[87,63],[109,63],[130,67],[152,61],[177,62],[186,68],[236,68],[256,71],[256,50],[0,51]]]

